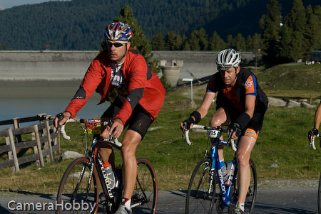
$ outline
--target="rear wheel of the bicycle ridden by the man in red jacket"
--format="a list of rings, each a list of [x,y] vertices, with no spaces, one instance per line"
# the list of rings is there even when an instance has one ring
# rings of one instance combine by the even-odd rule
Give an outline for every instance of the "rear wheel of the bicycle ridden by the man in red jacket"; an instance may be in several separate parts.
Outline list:
[[[137,159],[137,178],[131,198],[133,213],[156,212],[157,205],[157,180],[156,173],[147,159]]]

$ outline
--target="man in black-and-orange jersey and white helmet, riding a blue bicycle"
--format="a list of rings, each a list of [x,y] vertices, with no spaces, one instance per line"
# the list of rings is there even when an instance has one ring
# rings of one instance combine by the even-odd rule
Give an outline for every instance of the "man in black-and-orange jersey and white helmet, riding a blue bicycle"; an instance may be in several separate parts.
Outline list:
[[[255,75],[240,68],[240,53],[225,49],[218,53],[215,73],[208,82],[203,102],[184,122],[188,129],[208,114],[215,95],[216,111],[210,120],[210,127],[229,126],[232,139],[240,138],[236,158],[238,161],[239,195],[234,213],[244,212],[246,193],[250,184],[250,154],[263,125],[268,107],[267,96],[258,86]],[[183,129],[182,122],[180,128]],[[218,148],[220,161],[225,164],[223,146]],[[223,165],[222,165],[223,166]]]

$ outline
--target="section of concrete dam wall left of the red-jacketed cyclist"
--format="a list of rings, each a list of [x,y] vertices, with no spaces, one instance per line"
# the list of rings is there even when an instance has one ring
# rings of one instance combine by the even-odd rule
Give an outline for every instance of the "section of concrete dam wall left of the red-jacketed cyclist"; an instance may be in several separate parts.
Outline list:
[[[98,52],[0,53],[0,80],[82,79]]]

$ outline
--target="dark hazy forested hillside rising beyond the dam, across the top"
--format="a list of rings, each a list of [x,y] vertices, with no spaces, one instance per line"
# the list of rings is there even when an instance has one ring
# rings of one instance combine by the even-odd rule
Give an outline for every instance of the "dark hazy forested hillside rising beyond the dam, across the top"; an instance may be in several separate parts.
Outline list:
[[[115,1],[72,0],[15,6],[0,11],[0,48],[14,50],[97,50],[103,30],[124,5],[149,39],[161,31],[189,36],[205,28],[208,36],[217,31],[221,38],[242,33],[260,33],[259,18],[268,0],[177,0]],[[282,11],[290,11],[292,0],[280,0]],[[317,3],[305,0],[305,6]]]

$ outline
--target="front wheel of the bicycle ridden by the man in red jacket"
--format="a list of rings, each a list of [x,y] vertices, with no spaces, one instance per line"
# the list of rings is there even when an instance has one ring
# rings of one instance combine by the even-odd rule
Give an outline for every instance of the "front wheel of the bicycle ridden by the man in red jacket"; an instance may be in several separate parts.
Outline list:
[[[58,188],[56,213],[97,213],[98,179],[90,177],[88,158],[74,160],[66,169]]]

